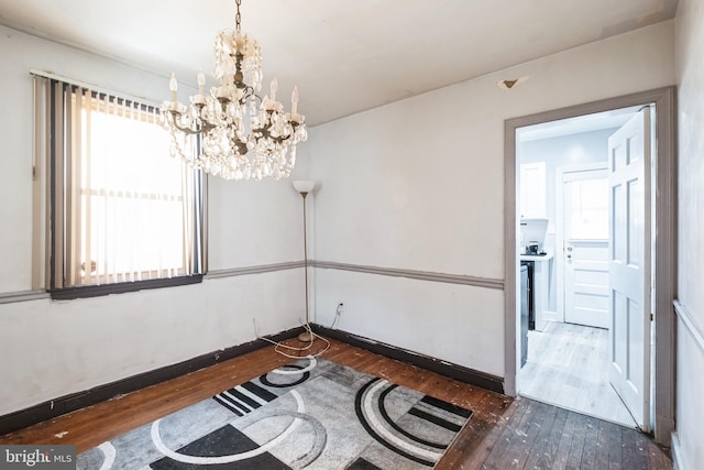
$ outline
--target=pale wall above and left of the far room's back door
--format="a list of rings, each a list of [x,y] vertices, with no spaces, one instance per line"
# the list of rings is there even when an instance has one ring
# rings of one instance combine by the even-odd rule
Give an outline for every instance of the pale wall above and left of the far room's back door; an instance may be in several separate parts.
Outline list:
[[[556,251],[556,170],[560,166],[579,165],[583,163],[607,163],[608,136],[616,129],[581,132],[572,135],[562,135],[551,139],[538,139],[517,144],[516,153],[520,163],[546,163],[546,217],[548,218],[548,232],[546,233],[544,249],[548,252]],[[557,259],[552,262],[550,271],[550,295],[548,309],[557,311],[562,318],[562,307],[557,300]]]

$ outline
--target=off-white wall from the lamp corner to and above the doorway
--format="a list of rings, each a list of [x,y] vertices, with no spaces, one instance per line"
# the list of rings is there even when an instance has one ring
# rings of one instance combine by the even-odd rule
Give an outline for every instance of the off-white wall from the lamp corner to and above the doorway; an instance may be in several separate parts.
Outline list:
[[[670,21],[317,127],[316,259],[503,280],[504,121],[672,85],[672,51]],[[316,271],[318,323],[503,376],[501,291]]]

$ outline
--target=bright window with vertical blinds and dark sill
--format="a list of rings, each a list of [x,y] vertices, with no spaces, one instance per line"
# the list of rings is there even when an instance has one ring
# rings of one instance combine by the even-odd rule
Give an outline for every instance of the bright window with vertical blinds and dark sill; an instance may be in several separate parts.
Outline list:
[[[200,281],[204,176],[170,156],[158,109],[34,80],[35,167],[44,170],[35,170],[35,181],[48,195],[43,280],[52,295]]]

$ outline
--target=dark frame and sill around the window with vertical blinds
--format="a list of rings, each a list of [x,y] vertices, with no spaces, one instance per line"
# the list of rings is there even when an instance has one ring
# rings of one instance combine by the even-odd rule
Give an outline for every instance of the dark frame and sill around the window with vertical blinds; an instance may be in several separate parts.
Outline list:
[[[66,240],[64,233],[59,233],[59,231],[64,231],[64,222],[58,219],[65,215],[63,214],[63,209],[56,208],[58,206],[64,207],[66,203],[57,200],[59,195],[57,194],[55,178],[65,177],[64,168],[57,168],[58,165],[63,165],[63,162],[57,164],[58,160],[65,159],[65,116],[62,116],[61,122],[57,122],[56,117],[66,113],[64,103],[66,88],[69,88],[68,95],[74,96],[77,89],[89,90],[94,96],[107,95],[112,99],[120,100],[122,106],[129,102],[136,103],[136,106],[144,107],[144,109],[152,108],[154,110],[158,109],[158,107],[143,99],[127,97],[53,74],[32,70],[31,75],[35,81],[37,79],[44,79],[42,84],[37,81],[34,85],[34,210],[40,214],[33,217],[35,231],[35,241],[33,243],[33,289],[44,289],[53,299],[74,299],[142,289],[183,286],[202,282],[205,273],[207,272],[207,175],[200,171],[193,170],[193,182],[189,179],[189,184],[193,185],[191,190],[194,192],[194,197],[184,203],[193,205],[191,209],[195,214],[191,227],[189,228],[191,232],[189,237],[193,237],[193,241],[187,248],[189,253],[194,253],[193,258],[188,260],[193,267],[183,266],[182,269],[186,270],[186,274],[89,285],[63,285],[66,278],[66,262],[63,262],[63,256],[66,255]],[[44,92],[46,94],[44,96],[45,102],[42,103],[43,107],[37,105],[37,88],[41,86],[45,87]],[[58,91],[59,89],[61,92]],[[57,95],[62,96],[59,97]],[[43,114],[38,116],[41,112],[43,112]],[[37,128],[41,129],[37,130]],[[42,131],[44,131],[44,133],[42,133]],[[167,131],[164,130],[164,132]],[[41,142],[42,139],[45,139],[46,142]],[[61,175],[58,175],[57,172],[61,172]],[[65,185],[68,187],[69,183]],[[84,189],[79,188],[78,194],[81,193],[84,193]],[[63,198],[63,196],[61,197]],[[70,222],[66,221],[65,223],[68,225]],[[59,261],[57,261],[58,256],[54,254],[54,251],[58,249],[63,250],[63,253],[58,255],[62,258]],[[57,263],[62,263],[62,266],[57,266]],[[193,272],[188,273],[188,271]],[[148,272],[148,270],[144,270],[144,272]]]

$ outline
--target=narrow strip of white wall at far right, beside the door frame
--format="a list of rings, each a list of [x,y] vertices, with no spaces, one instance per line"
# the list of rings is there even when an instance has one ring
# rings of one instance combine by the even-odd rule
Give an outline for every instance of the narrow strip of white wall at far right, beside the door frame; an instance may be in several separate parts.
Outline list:
[[[704,462],[704,2],[680,0],[675,57],[679,139],[679,275],[683,306],[678,323],[676,429],[673,451],[680,469]],[[689,325],[688,325],[689,324]]]

